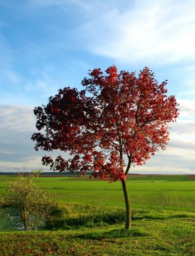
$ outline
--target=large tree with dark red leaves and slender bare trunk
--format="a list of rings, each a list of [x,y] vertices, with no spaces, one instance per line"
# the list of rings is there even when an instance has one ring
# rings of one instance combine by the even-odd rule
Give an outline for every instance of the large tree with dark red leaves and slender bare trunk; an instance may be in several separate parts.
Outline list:
[[[89,70],[90,71],[90,70]],[[34,109],[35,149],[61,150],[56,159],[42,158],[51,170],[92,172],[102,180],[121,180],[126,202],[126,229],[131,226],[131,205],[126,177],[132,165],[145,164],[158,148],[166,148],[168,122],[178,116],[175,96],[167,96],[167,81],[158,84],[147,67],[135,72],[112,66],[106,74],[96,68],[82,85],[66,87],[50,97],[47,106]]]

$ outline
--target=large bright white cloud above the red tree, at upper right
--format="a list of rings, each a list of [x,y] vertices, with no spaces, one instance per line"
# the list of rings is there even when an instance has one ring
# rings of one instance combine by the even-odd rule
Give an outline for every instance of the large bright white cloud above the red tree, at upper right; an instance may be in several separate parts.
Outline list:
[[[106,12],[94,10],[80,31],[92,52],[123,63],[194,61],[194,8],[191,0],[135,1],[123,12],[113,4]]]

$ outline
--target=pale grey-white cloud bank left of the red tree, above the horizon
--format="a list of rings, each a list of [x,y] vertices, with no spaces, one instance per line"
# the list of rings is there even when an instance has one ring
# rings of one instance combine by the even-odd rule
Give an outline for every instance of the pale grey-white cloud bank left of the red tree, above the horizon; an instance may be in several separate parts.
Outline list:
[[[41,168],[41,158],[47,154],[43,150],[34,150],[35,142],[31,140],[36,130],[36,117],[29,106],[0,105],[0,172],[13,171],[12,166],[22,169],[27,165],[29,170]],[[52,157],[59,155],[55,151]]]

